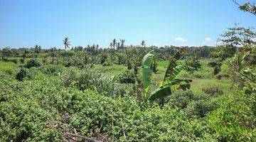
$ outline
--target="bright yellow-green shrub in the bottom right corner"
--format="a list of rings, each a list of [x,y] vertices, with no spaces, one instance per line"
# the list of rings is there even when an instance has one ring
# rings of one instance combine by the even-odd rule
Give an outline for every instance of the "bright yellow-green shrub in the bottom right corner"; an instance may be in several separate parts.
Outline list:
[[[244,92],[222,99],[220,108],[208,116],[219,141],[256,141],[255,100],[255,94]]]

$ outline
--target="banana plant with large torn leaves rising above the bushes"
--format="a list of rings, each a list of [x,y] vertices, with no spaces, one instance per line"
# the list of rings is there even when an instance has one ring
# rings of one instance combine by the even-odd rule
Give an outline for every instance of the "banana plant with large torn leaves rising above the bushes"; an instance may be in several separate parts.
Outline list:
[[[189,89],[190,82],[192,80],[186,79],[178,79],[176,76],[181,70],[184,69],[184,65],[179,65],[178,60],[182,58],[182,55],[185,53],[184,48],[178,50],[178,52],[171,58],[169,62],[169,66],[166,69],[164,80],[161,83],[161,86],[156,89],[155,92],[150,93],[150,84],[151,84],[151,76],[152,70],[149,68],[152,60],[154,58],[154,50],[151,50],[147,53],[142,60],[142,94],[143,98],[149,101],[156,101],[158,99],[164,99],[171,95],[172,90],[174,89]]]

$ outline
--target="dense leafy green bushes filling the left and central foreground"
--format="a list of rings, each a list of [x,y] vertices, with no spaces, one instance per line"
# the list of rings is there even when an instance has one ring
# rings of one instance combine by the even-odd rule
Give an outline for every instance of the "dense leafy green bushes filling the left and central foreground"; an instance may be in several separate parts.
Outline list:
[[[1,87],[10,81],[4,77]],[[55,77],[7,86],[9,91],[1,92],[5,96],[0,105],[1,141],[68,141],[70,133],[78,141],[86,137],[104,141],[215,139],[205,122],[187,119],[183,111],[169,106],[141,104],[136,97],[81,92],[63,87]]]

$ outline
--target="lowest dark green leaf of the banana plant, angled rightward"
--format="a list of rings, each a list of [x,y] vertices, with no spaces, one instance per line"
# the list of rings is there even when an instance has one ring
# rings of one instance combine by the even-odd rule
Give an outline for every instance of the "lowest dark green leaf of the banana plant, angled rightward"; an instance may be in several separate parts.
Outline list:
[[[170,87],[159,87],[159,89],[151,94],[149,97],[150,101],[155,101],[156,99],[160,99],[163,97],[167,97],[171,95],[171,88]]]

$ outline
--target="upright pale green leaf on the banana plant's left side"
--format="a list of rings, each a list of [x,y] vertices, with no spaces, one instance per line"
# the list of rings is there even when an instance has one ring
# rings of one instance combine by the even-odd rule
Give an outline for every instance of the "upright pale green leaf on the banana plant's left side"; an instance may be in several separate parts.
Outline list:
[[[149,67],[154,58],[153,52],[154,50],[151,50],[142,59],[142,85],[143,85],[142,92],[144,95],[146,95],[149,92],[149,87],[151,84],[151,77],[152,77],[153,71]]]

